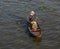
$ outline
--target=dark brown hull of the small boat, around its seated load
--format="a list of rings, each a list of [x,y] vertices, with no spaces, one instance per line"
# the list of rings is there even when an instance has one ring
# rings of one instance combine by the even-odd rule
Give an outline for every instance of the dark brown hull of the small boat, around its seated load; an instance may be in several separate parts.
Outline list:
[[[33,32],[32,29],[30,28],[30,23],[27,21],[27,26],[28,26],[28,31],[29,31],[29,34],[33,37],[37,37],[37,38],[41,38],[42,35],[41,35],[41,29],[39,27],[39,24],[38,24],[38,31],[37,32]]]

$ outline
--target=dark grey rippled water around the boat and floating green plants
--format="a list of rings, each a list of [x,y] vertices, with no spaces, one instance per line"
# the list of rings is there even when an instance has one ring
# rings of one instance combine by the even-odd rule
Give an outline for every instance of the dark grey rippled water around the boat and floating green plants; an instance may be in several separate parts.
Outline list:
[[[40,6],[56,11],[39,11]],[[38,43],[25,33],[25,20],[33,9],[43,35]],[[0,49],[60,49],[60,1],[0,0]]]

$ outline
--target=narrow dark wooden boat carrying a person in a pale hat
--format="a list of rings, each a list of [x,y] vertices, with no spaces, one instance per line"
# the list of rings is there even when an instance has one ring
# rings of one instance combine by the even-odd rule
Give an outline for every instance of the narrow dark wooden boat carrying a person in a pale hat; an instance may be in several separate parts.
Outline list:
[[[27,27],[29,30],[29,33],[33,36],[33,37],[39,37],[41,38],[41,28],[39,27],[39,24],[37,23],[38,27],[37,27],[37,31],[32,31],[31,29],[31,23],[29,21],[27,21]]]

